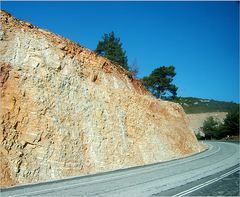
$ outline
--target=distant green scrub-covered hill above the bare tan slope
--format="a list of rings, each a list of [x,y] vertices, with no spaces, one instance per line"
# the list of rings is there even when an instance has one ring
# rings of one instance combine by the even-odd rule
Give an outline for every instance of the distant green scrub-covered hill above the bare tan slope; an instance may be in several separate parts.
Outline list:
[[[233,102],[216,101],[194,97],[180,97],[171,100],[179,103],[187,114],[207,112],[229,112],[239,108],[239,104]]]

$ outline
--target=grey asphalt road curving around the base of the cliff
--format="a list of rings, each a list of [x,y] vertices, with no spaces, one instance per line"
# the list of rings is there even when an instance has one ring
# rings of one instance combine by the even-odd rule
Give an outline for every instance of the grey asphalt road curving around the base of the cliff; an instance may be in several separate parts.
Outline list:
[[[210,185],[219,185],[219,181],[229,181],[229,176],[236,177],[239,173],[239,144],[207,144],[209,150],[191,157],[94,176],[3,189],[1,196],[198,195],[196,192],[200,189],[207,190]],[[212,189],[216,187],[208,190]]]

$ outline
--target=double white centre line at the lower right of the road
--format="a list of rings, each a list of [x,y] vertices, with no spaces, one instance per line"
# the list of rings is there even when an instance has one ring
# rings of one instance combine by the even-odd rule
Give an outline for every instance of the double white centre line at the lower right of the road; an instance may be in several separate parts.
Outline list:
[[[209,181],[207,181],[207,182],[205,182],[205,183],[202,183],[202,184],[200,184],[200,185],[197,185],[197,186],[195,186],[195,187],[192,187],[192,188],[190,188],[190,189],[187,189],[187,190],[185,190],[185,191],[182,191],[182,192],[180,192],[180,193],[178,193],[178,194],[175,194],[173,197],[181,197],[181,196],[185,196],[185,195],[187,195],[187,194],[190,194],[190,193],[192,193],[192,192],[194,192],[194,191],[196,191],[196,190],[199,190],[199,189],[201,189],[201,188],[203,188],[203,187],[205,187],[205,186],[208,186],[208,185],[210,185],[210,184],[212,184],[212,183],[215,183],[215,182],[217,182],[217,181],[219,181],[219,180],[221,180],[221,179],[223,179],[223,178],[225,178],[225,177],[227,177],[227,176],[229,176],[229,175],[237,172],[239,169],[240,169],[240,168],[237,167],[237,168],[235,168],[235,169],[233,169],[233,170],[231,170],[231,171],[229,171],[229,172],[227,172],[227,173],[225,173],[225,174],[222,174],[222,175],[221,175],[220,177],[218,177],[218,178],[211,179],[211,180],[209,180]]]

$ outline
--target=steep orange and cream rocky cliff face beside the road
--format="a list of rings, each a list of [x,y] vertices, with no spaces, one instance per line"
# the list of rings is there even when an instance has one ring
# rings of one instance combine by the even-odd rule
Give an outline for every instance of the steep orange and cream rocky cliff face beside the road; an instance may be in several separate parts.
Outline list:
[[[94,52],[1,11],[2,186],[199,151],[183,109]]]

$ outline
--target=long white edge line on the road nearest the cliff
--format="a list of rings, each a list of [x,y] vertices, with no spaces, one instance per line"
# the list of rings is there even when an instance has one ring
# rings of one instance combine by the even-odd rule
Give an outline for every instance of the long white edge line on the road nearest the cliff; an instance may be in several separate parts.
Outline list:
[[[209,150],[212,150],[213,146],[211,144],[209,144],[210,148]],[[220,151],[220,146],[217,146],[217,150],[215,150],[214,152],[212,152],[211,154],[208,154],[207,156],[204,156],[204,157],[209,157],[210,155],[213,155],[217,152]],[[204,158],[204,157],[199,157],[197,159],[200,159],[200,158]],[[183,161],[183,162],[179,162],[179,163],[175,163],[175,164],[170,164],[170,165],[167,165],[167,166],[162,166],[162,167],[159,167],[159,166],[156,166],[155,168],[157,168],[157,170],[159,169],[162,169],[162,168],[165,168],[165,167],[169,167],[169,166],[176,166],[176,165],[179,165],[179,164],[183,164],[183,163],[187,163],[187,162],[191,162],[191,161],[194,161],[196,160],[196,158],[192,158],[192,159],[189,159],[187,161]],[[65,186],[61,186],[61,187],[54,187],[54,188],[49,188],[49,189],[43,189],[43,190],[38,190],[38,191],[32,191],[32,192],[26,192],[26,193],[23,193],[23,194],[15,194],[15,195],[11,195],[9,197],[16,197],[16,196],[26,196],[26,195],[32,195],[32,194],[41,194],[42,192],[45,193],[45,192],[50,192],[50,191],[55,191],[55,190],[60,190],[60,189],[69,189],[69,188],[72,188],[72,187],[75,187],[75,186],[80,186],[80,185],[88,185],[88,184],[92,184],[92,183],[100,183],[102,181],[109,181],[109,180],[113,180],[113,179],[119,179],[119,178],[123,178],[123,177],[128,177],[128,176],[133,176],[136,174],[144,174],[144,173],[148,173],[148,172],[153,172],[155,171],[156,169],[150,169],[150,170],[145,170],[145,171],[142,171],[140,173],[129,173],[129,174],[125,174],[125,175],[122,175],[122,176],[113,176],[113,177],[109,177],[109,178],[105,178],[105,179],[98,179],[98,180],[93,180],[93,181],[88,181],[88,182],[85,182],[85,183],[75,183],[75,184],[71,184],[71,185],[65,185]]]

